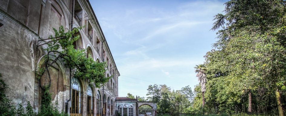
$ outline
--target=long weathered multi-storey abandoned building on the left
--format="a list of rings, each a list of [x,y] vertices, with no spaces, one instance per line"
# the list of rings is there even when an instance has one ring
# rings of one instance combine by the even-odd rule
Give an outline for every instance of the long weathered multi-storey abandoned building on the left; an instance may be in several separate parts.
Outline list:
[[[38,40],[54,35],[53,27],[71,30],[71,20],[73,27],[85,26],[77,33],[75,49],[85,49],[94,61],[107,62],[106,77],[113,77],[101,88],[77,78],[70,86],[70,71],[58,60],[49,67],[52,102],[71,116],[113,116],[120,74],[88,0],[0,0],[0,73],[9,85],[5,94],[14,104],[25,106],[29,101],[39,110],[42,91],[35,71],[44,65],[47,53],[41,47],[47,45],[38,46]],[[66,108],[71,87],[72,100]]]

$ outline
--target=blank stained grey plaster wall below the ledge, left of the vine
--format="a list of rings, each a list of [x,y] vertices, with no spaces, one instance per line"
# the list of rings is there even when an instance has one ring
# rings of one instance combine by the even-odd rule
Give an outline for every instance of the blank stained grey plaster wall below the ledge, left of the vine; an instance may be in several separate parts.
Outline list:
[[[33,103],[35,43],[38,36],[0,12],[0,72],[9,85],[6,94],[15,104]]]

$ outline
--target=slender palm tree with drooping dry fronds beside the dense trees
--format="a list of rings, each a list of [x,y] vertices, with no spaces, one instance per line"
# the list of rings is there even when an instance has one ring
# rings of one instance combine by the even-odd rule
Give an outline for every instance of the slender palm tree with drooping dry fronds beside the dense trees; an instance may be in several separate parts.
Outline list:
[[[196,65],[195,72],[197,73],[196,77],[198,77],[199,83],[201,84],[202,90],[202,107],[204,108],[205,105],[205,83],[206,83],[206,68],[204,64]]]

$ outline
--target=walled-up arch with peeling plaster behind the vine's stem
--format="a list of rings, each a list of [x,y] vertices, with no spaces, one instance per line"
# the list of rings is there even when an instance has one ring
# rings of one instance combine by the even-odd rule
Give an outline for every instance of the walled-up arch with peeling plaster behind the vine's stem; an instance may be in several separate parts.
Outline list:
[[[51,63],[56,57],[54,55],[49,55],[50,60],[48,63]],[[44,56],[40,59],[39,63],[37,64],[37,70],[40,70],[41,68],[46,67],[46,59]],[[63,65],[62,60],[57,60],[55,63],[51,64],[51,66],[48,67],[50,77],[49,79],[48,72],[45,71],[44,74],[41,76],[40,79],[36,77],[35,79],[35,88],[34,88],[34,108],[38,110],[41,107],[41,100],[43,95],[43,90],[40,88],[40,86],[46,86],[49,84],[49,81],[51,81],[51,87],[49,89],[49,92],[51,93],[51,102],[52,103],[58,103],[58,107],[60,110],[64,110],[64,101],[66,101],[65,94],[68,93],[69,89],[65,88],[68,84],[68,78],[65,73],[65,67]],[[37,71],[36,71],[37,72]]]

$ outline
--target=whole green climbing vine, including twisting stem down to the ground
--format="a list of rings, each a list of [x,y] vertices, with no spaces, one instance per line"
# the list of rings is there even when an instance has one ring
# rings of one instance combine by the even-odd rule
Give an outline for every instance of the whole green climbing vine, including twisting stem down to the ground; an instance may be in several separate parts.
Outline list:
[[[100,84],[106,83],[111,77],[105,77],[106,63],[99,63],[87,57],[85,55],[85,49],[74,49],[73,43],[80,38],[80,36],[72,36],[78,33],[78,30],[82,27],[74,28],[72,31],[64,32],[64,27],[59,27],[59,30],[53,28],[55,36],[49,36],[51,38],[48,47],[44,50],[47,51],[47,55],[44,56],[45,68],[38,68],[35,75],[40,80],[43,74],[46,72],[46,76],[49,78],[49,84],[42,86],[41,80],[39,81],[41,89],[44,91],[42,96],[41,112],[43,115],[51,115],[53,112],[57,113],[57,107],[51,105],[51,94],[49,89],[51,87],[51,75],[48,67],[59,59],[63,59],[66,67],[70,69],[70,77],[86,80],[89,84],[94,83],[96,87],[100,87]],[[57,39],[64,37],[62,39]],[[50,54],[53,54],[55,58],[52,60]],[[56,110],[55,110],[56,109]],[[65,115],[62,113],[61,115]]]

